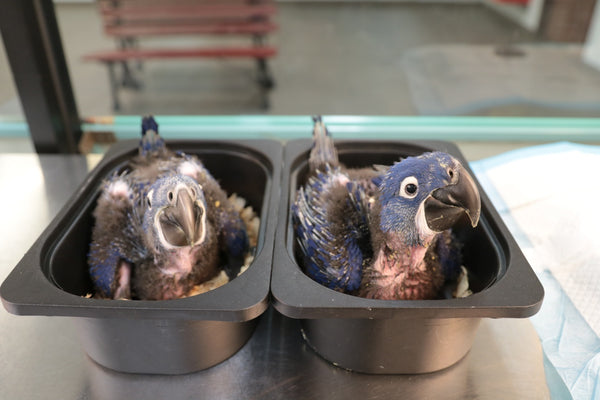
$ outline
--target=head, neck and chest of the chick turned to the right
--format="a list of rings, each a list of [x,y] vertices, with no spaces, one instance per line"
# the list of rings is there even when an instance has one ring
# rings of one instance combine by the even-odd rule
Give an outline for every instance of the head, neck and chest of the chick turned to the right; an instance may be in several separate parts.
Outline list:
[[[373,261],[361,295],[380,299],[436,298],[460,271],[451,229],[466,215],[475,227],[481,200],[473,178],[442,152],[408,157],[389,168],[371,210]]]

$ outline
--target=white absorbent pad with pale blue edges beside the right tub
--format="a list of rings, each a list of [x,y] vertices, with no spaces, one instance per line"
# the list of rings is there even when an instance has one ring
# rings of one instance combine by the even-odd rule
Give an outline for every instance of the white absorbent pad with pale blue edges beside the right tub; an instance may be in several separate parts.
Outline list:
[[[471,167],[544,285],[531,321],[552,397],[600,399],[600,147],[542,145]]]

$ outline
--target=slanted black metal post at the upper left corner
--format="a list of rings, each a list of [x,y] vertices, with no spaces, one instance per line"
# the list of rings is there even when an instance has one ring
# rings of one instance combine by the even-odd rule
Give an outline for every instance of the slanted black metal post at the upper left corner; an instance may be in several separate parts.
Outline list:
[[[81,123],[52,0],[0,2],[0,32],[38,153],[76,153]]]

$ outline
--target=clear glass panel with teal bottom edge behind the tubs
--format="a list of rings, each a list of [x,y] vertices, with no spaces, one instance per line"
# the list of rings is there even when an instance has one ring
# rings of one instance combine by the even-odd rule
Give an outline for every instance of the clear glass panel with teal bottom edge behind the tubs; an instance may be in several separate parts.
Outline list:
[[[355,119],[329,121],[340,123],[334,125],[340,137],[372,130],[394,135],[400,129],[407,136],[461,141],[597,141],[571,129],[581,121],[549,119],[600,115],[600,11],[594,0],[166,4],[55,3],[77,108],[92,122],[84,128],[95,132],[89,148],[107,139],[104,131],[117,139],[136,136],[138,116],[149,113],[414,116],[416,120],[362,120],[358,127]],[[105,52],[104,61],[99,52]],[[132,52],[143,60],[128,58]],[[257,62],[257,54],[266,62]],[[112,60],[118,88],[111,86],[107,60]],[[4,53],[0,87],[0,135],[18,138],[4,140],[0,150],[31,151]],[[104,115],[117,118],[99,119]],[[126,121],[121,116],[136,119],[133,125],[121,125]],[[494,118],[458,120],[458,125],[430,119],[447,116],[541,119],[509,121],[510,126]],[[207,135],[264,137],[268,132],[284,139],[306,137],[310,127],[306,118],[285,120],[283,131],[277,130],[283,128],[282,120],[241,118],[217,120],[221,130],[208,132],[215,120],[162,121],[163,131],[175,126],[184,136],[199,124]],[[593,121],[583,123],[587,133],[595,131]],[[448,130],[448,124],[453,128]],[[551,132],[545,135],[547,128]]]

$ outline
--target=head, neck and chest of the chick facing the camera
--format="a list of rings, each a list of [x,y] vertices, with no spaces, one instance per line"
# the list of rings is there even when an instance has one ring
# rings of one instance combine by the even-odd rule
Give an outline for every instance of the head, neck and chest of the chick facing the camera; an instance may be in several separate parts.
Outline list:
[[[202,188],[185,175],[158,179],[146,195],[142,229],[148,257],[132,287],[141,298],[179,298],[220,271],[215,227]],[[214,218],[211,218],[214,221]]]

